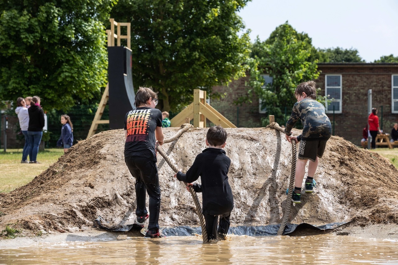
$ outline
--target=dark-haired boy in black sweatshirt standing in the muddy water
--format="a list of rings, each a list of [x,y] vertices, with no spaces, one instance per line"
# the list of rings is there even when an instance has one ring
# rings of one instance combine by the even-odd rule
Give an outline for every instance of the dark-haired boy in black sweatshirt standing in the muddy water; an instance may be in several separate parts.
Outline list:
[[[222,150],[227,133],[220,125],[207,131],[206,148],[198,154],[186,174],[181,169],[174,175],[178,180],[189,183],[196,192],[203,192],[203,216],[205,217],[207,238],[216,239],[217,233],[224,239],[230,226],[230,214],[234,208],[234,198],[228,183],[228,170],[231,160]],[[201,177],[201,183],[192,184]],[[218,217],[220,225],[217,230]]]

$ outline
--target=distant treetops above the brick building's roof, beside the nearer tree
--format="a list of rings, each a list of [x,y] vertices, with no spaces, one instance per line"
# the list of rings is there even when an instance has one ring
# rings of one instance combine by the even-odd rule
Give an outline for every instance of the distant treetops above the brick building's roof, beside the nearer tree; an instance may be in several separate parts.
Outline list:
[[[343,49],[340,47],[318,49],[320,53],[319,62],[365,62],[357,49]]]

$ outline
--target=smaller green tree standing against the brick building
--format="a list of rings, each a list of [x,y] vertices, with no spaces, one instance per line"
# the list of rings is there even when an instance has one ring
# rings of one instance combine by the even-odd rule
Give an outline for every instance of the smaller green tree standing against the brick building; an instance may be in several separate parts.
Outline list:
[[[251,57],[247,61],[250,65],[248,93],[237,103],[251,102],[252,94],[256,94],[267,114],[275,115],[275,121],[282,124],[286,117],[281,108],[293,107],[296,86],[318,78],[319,55],[308,35],[297,33],[286,22],[278,26],[266,41],[256,39]],[[269,74],[273,82],[264,87],[261,74]],[[267,123],[265,120],[264,122]]]

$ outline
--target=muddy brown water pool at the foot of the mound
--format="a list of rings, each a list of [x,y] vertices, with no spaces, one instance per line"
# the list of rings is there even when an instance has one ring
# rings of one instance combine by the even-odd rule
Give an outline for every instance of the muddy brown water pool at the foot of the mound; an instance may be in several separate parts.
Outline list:
[[[398,242],[335,236],[199,236],[42,243],[0,250],[1,264],[398,264]]]

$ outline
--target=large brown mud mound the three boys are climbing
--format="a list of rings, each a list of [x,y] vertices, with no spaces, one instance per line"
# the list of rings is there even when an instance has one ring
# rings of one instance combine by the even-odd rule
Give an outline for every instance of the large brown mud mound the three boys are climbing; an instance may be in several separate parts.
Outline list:
[[[166,128],[166,138],[179,128]],[[291,145],[267,128],[226,129],[231,158],[229,182],[235,208],[232,226],[278,224],[283,217],[291,170]],[[162,147],[185,172],[205,148],[207,129],[191,129]],[[298,131],[295,131],[298,133]],[[0,194],[0,230],[17,224],[24,233],[75,232],[98,216],[109,226],[135,219],[134,178],[124,162],[123,130],[82,140],[27,185]],[[160,226],[197,226],[191,195],[158,154],[162,204]],[[398,171],[377,153],[332,136],[316,173],[317,187],[291,209],[290,222],[314,225],[398,222]],[[201,193],[198,193],[201,199]]]

